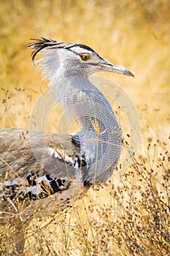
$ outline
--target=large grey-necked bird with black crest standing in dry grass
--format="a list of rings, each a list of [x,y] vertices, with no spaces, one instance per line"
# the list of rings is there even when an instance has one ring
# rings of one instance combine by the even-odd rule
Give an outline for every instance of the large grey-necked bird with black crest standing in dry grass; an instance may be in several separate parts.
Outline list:
[[[89,76],[114,72],[134,77],[95,50],[74,42],[33,39],[26,48],[49,81],[50,94],[80,130],[57,134],[0,130],[0,219],[15,226],[14,252],[22,255],[28,222],[72,206],[94,184],[106,182],[120,159],[123,132],[107,98]],[[35,61],[37,56],[41,56]]]

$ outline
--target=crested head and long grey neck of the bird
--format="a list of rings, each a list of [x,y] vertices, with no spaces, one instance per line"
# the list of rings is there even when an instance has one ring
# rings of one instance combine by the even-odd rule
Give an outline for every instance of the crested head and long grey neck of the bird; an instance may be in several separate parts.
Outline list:
[[[89,169],[83,173],[84,181],[90,184],[93,184],[94,178],[96,183],[106,181],[112,174],[107,172],[107,168],[116,166],[120,157],[121,129],[111,105],[90,83],[88,76],[101,70],[125,75],[132,75],[131,72],[102,59],[86,45],[42,39],[28,47],[35,49],[33,60],[36,53],[43,50],[45,56],[36,63],[50,80],[51,93],[61,103],[65,113],[80,120],[82,130],[77,132],[77,136],[82,143],[82,154],[89,162]],[[85,54],[90,59],[82,61],[81,56]],[[100,135],[93,127],[94,120],[99,124]]]

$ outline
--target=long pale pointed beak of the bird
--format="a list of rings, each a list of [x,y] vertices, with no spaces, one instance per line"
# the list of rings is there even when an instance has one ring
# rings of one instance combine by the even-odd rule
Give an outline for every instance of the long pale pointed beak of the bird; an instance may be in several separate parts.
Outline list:
[[[134,77],[131,71],[128,69],[125,69],[124,67],[117,66],[116,64],[113,64],[110,61],[107,61],[104,59],[104,61],[98,63],[98,66],[100,66],[104,71],[107,72],[113,72],[113,73],[118,73],[118,74],[123,74],[123,75],[129,75],[131,77]]]

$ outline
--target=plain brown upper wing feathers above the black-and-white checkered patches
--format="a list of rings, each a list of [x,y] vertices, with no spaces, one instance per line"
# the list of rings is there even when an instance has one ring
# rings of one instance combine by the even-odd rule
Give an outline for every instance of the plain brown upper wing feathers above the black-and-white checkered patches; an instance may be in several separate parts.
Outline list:
[[[69,135],[27,129],[0,130],[1,179],[7,179],[7,172],[12,171],[21,178],[31,172],[73,178],[75,156],[80,156],[80,148],[72,143]]]

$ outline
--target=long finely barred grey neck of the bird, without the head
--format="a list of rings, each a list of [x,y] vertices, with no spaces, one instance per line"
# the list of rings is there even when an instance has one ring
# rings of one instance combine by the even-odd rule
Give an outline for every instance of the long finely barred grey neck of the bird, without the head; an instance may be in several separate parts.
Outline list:
[[[85,180],[107,180],[111,173],[104,173],[109,166],[117,165],[120,157],[122,133],[115,113],[106,97],[88,80],[85,73],[56,74],[50,90],[66,114],[77,116],[81,131],[77,138],[82,145],[82,154],[91,163]],[[103,173],[102,173],[103,172]],[[101,175],[102,174],[102,175]],[[103,176],[104,175],[104,176]]]

